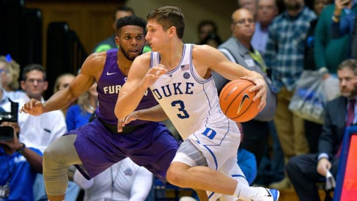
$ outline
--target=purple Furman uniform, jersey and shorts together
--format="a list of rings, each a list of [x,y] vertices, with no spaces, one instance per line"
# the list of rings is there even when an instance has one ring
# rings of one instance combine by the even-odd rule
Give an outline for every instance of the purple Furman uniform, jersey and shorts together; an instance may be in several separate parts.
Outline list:
[[[114,108],[126,77],[118,67],[117,49],[107,52],[106,63],[98,81],[99,109],[95,120],[64,134],[76,134],[74,147],[81,160],[75,166],[82,175],[91,179],[118,161],[129,157],[166,182],[166,171],[173,160],[178,141],[160,122],[133,121],[117,132],[118,119]],[[150,90],[138,108],[157,105]],[[122,106],[125,107],[125,106]]]

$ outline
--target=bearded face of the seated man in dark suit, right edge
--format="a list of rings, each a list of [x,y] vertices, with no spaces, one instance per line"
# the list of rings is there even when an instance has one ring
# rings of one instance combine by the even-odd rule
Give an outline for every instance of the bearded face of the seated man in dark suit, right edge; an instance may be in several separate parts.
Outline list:
[[[337,71],[337,76],[340,80],[341,95],[351,97],[356,95],[357,76],[354,71],[349,68],[343,68]]]

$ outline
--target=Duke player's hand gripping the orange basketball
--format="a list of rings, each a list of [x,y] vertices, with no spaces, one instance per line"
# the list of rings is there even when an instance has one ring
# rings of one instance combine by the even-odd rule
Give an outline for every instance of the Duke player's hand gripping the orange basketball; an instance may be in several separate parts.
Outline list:
[[[259,112],[261,112],[266,105],[267,83],[265,82],[265,80],[263,78],[260,78],[260,77],[245,76],[245,77],[240,77],[240,78],[249,80],[255,84],[255,86],[253,86],[249,89],[249,92],[258,91],[258,93],[255,94],[253,101],[256,101],[260,98],[258,110],[259,110]]]

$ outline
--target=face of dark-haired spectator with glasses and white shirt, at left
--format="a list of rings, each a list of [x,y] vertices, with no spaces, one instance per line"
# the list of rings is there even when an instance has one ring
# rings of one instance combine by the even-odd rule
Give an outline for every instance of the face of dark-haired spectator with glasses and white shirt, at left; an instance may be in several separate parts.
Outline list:
[[[39,99],[47,89],[48,82],[44,80],[44,74],[39,70],[31,70],[26,74],[26,80],[21,81],[21,88],[30,98]]]

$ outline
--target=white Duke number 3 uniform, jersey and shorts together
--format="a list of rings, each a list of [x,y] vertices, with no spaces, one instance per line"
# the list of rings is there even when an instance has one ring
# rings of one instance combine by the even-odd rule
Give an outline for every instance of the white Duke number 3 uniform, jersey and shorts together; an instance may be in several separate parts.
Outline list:
[[[238,175],[244,177],[237,164],[239,129],[223,114],[213,77],[204,79],[197,73],[192,48],[193,44],[184,44],[179,65],[161,75],[150,89],[182,139],[189,139],[202,152],[208,167],[238,180]],[[150,67],[158,64],[160,54],[152,52]],[[210,201],[220,197],[208,195]]]

